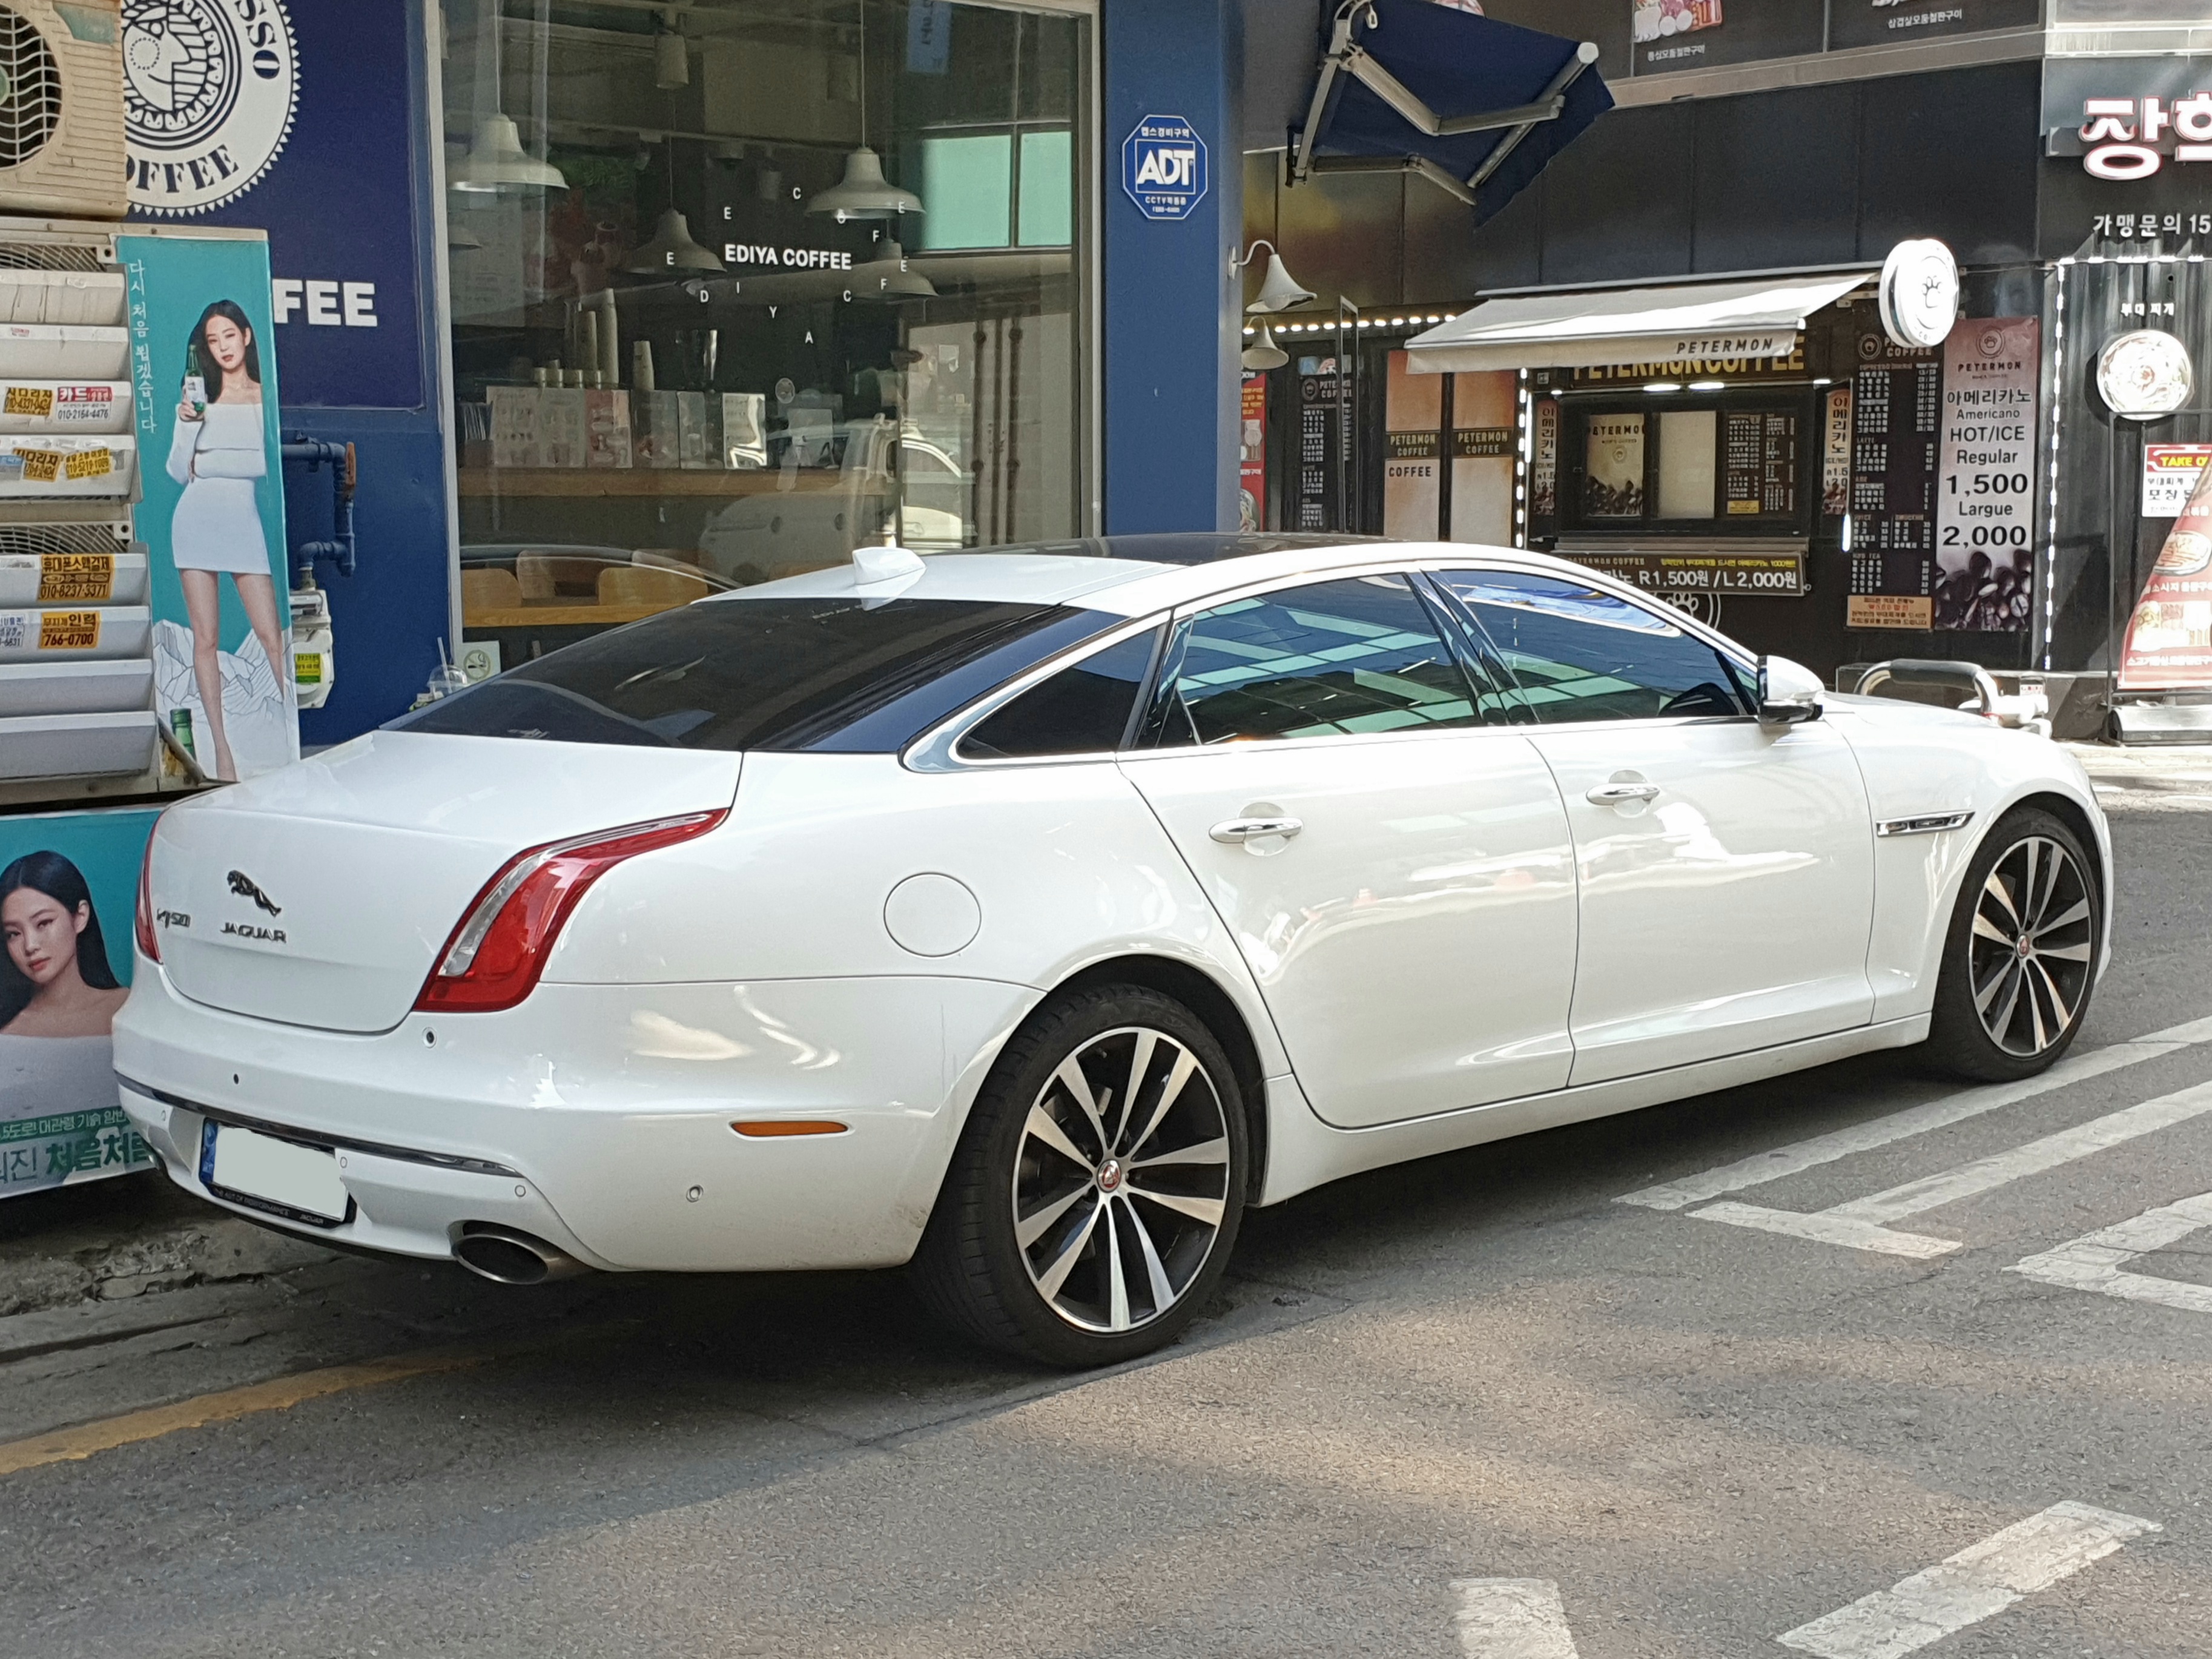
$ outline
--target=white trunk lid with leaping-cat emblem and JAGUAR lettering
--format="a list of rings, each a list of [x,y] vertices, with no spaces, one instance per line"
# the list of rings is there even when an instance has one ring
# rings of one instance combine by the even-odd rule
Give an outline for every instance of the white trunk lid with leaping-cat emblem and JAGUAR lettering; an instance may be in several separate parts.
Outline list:
[[[161,962],[210,1009],[389,1031],[500,865],[546,841],[728,807],[739,761],[369,732],[161,816]]]

